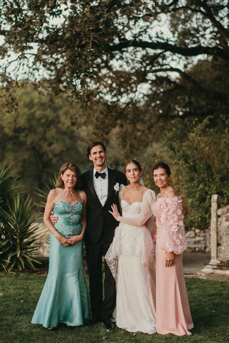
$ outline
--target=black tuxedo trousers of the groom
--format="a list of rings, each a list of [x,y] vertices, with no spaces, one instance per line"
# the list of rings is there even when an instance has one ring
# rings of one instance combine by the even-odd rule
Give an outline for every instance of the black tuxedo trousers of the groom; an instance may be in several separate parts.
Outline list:
[[[104,232],[97,243],[85,242],[91,312],[93,317],[101,317],[103,320],[112,317],[116,306],[116,283],[106,260],[103,300],[102,257],[106,255],[109,246]]]

